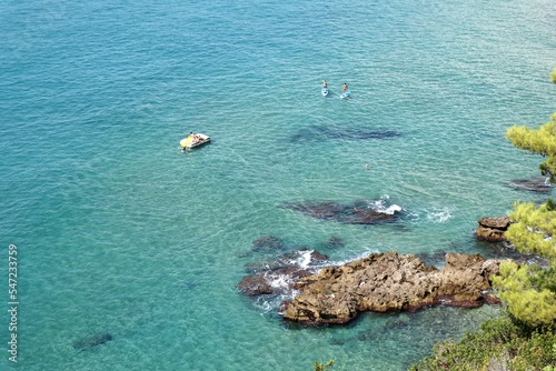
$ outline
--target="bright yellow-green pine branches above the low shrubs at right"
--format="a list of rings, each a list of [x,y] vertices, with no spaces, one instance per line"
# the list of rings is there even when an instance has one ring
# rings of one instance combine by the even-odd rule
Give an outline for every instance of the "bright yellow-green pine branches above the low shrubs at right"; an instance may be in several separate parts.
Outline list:
[[[512,143],[548,159],[540,171],[554,181],[556,176],[556,113],[552,121],[537,130],[513,127],[507,133]],[[512,224],[505,235],[517,250],[548,259],[549,269],[519,265],[514,262],[500,264],[500,274],[493,285],[508,311],[529,327],[552,324],[556,321],[556,211],[552,199],[537,207],[534,203],[514,204],[509,213]]]

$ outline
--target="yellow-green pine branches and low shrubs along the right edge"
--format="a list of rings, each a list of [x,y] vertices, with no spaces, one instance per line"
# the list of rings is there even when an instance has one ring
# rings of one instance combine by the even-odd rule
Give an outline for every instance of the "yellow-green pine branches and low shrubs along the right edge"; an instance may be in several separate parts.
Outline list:
[[[550,74],[556,83],[556,68]],[[512,127],[506,138],[514,147],[546,158],[540,172],[555,182],[556,113],[538,129]],[[522,253],[546,260],[546,267],[500,263],[493,285],[504,303],[503,315],[459,342],[437,343],[429,358],[410,370],[556,370],[556,207],[516,202],[505,235]]]

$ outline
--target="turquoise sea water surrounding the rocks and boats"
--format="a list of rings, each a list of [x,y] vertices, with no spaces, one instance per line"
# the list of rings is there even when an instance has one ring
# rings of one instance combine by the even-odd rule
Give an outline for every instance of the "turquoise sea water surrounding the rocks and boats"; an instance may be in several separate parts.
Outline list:
[[[264,235],[337,262],[494,255],[476,220],[543,199],[508,187],[540,158],[504,132],[554,112],[555,17],[549,0],[4,2],[1,298],[16,244],[19,307],[18,363],[2,352],[1,368],[404,370],[496,317],[299,328],[237,283]],[[190,131],[212,143],[181,153]],[[280,207],[380,198],[407,217],[363,227]],[[112,340],[75,349],[98,333]]]

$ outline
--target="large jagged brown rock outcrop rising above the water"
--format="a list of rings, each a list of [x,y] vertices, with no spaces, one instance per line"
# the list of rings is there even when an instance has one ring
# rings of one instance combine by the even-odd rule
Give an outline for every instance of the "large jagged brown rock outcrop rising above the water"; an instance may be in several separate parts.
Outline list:
[[[345,323],[361,311],[415,310],[438,303],[478,307],[499,261],[447,253],[438,270],[414,255],[373,253],[300,278],[300,294],[282,303],[285,318],[306,324]],[[492,300],[492,298],[488,298]]]

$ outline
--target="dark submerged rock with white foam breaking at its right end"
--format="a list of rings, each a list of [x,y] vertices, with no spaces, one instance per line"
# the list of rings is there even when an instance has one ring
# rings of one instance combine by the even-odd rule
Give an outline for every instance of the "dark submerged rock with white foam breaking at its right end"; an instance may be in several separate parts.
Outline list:
[[[375,224],[394,221],[398,219],[401,211],[397,204],[386,208],[384,200],[364,200],[354,204],[341,204],[334,201],[304,201],[285,203],[282,207],[315,219],[348,224]]]

